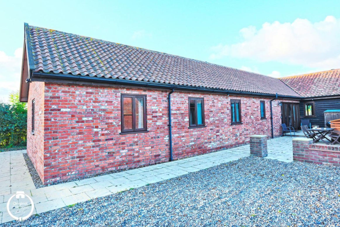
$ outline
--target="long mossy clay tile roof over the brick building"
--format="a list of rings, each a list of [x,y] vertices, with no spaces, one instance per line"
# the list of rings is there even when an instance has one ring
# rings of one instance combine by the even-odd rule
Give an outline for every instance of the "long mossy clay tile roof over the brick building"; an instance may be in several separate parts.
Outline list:
[[[28,26],[34,72],[300,97],[277,78],[115,42]]]

